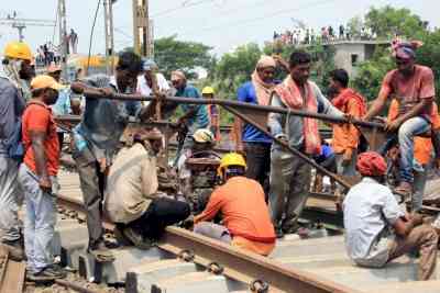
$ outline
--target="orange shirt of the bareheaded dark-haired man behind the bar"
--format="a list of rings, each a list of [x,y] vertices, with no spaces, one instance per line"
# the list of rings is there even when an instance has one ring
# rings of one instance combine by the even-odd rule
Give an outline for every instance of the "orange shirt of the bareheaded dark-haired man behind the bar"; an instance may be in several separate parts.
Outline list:
[[[360,119],[362,116],[362,106],[358,100],[350,99],[342,112]],[[341,154],[348,148],[358,148],[359,137],[360,132],[353,124],[333,124],[331,146],[336,154]]]

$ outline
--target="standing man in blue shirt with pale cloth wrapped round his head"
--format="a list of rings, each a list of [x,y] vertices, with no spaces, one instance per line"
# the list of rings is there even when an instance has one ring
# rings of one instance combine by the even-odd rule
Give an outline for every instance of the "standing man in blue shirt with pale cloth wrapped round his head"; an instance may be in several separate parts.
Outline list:
[[[243,83],[238,92],[239,102],[268,105],[274,80],[276,61],[271,56],[263,55],[256,63],[251,81]],[[243,123],[239,117],[234,121],[235,150],[246,156],[246,177],[257,180],[268,192],[268,173],[271,171],[272,138],[260,132],[253,125]]]

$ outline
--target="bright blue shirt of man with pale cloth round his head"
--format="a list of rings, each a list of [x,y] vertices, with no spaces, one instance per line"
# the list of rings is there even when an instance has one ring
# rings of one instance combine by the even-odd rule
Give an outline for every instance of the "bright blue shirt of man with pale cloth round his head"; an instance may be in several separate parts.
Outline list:
[[[258,104],[256,98],[255,87],[252,81],[243,83],[238,92],[237,98],[239,102],[245,102],[251,104]],[[264,133],[252,126],[251,124],[244,123],[242,140],[244,143],[265,143],[272,144],[272,138],[266,136]]]

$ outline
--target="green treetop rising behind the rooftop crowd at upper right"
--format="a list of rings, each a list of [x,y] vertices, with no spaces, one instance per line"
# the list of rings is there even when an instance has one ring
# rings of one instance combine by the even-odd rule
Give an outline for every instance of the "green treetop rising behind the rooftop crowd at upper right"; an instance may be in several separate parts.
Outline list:
[[[413,37],[425,31],[428,23],[421,21],[420,16],[408,9],[395,9],[386,5],[384,8],[372,8],[365,15],[365,25],[372,30],[377,37],[389,38],[397,35]]]

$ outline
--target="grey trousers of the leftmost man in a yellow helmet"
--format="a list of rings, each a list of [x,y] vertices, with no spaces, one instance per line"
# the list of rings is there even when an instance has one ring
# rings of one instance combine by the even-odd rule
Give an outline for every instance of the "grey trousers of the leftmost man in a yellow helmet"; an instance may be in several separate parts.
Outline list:
[[[0,155],[0,229],[2,241],[15,241],[21,237],[19,225],[19,203],[22,191],[19,187],[19,164]]]

